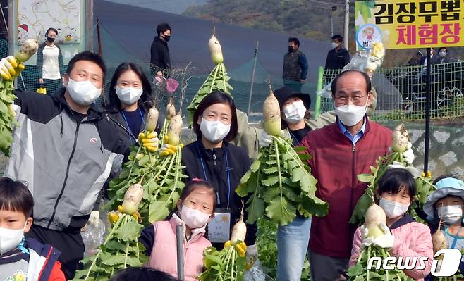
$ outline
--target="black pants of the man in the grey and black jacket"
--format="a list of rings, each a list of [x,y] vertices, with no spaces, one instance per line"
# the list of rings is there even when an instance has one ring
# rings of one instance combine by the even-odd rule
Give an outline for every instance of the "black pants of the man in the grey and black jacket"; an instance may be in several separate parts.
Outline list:
[[[32,225],[26,235],[37,239],[42,244],[50,244],[59,249],[61,255],[58,260],[61,263],[61,270],[66,275],[66,280],[73,279],[79,261],[84,257],[85,246],[83,238],[80,236],[80,230],[49,230],[45,227]]]

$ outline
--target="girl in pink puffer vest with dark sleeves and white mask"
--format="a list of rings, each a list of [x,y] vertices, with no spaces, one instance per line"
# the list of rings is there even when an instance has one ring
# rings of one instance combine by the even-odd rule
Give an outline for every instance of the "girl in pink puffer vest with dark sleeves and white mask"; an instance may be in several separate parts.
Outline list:
[[[214,188],[204,180],[190,180],[178,201],[178,211],[169,220],[142,230],[139,241],[147,249],[149,268],[177,277],[176,226],[182,225],[185,280],[197,280],[203,271],[203,250],[211,246],[204,234],[207,223],[214,217],[215,206]]]

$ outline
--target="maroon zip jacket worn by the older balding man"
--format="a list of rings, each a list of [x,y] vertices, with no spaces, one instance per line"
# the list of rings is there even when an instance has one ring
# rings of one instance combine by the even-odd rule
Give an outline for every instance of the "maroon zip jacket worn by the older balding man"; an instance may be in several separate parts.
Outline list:
[[[351,214],[367,184],[357,175],[371,173],[379,156],[388,154],[392,132],[367,121],[365,134],[353,146],[335,123],[311,131],[301,142],[312,158],[308,161],[317,179],[316,196],[329,203],[327,216],[312,217],[310,250],[324,256],[349,258],[357,225]]]

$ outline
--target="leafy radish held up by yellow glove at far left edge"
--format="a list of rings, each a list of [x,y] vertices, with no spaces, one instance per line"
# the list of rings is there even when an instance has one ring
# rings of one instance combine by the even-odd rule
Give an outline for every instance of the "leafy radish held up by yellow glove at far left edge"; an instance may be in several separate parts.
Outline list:
[[[27,39],[15,56],[8,56],[3,68],[0,68],[0,151],[9,156],[13,137],[13,127],[18,125],[14,119],[16,112],[13,110],[13,81],[24,69],[23,63],[35,54],[38,45],[34,39]]]

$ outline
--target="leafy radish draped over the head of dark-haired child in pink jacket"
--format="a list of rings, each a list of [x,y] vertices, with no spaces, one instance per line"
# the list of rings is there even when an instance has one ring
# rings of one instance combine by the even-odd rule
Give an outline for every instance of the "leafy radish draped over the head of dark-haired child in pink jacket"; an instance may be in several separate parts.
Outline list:
[[[379,182],[380,177],[384,174],[386,169],[389,167],[393,168],[405,168],[410,171],[415,177],[415,187],[417,190],[417,195],[415,196],[415,201],[411,204],[409,208],[409,213],[416,220],[422,221],[419,216],[415,213],[415,207],[422,209],[422,206],[427,201],[429,194],[434,192],[436,187],[432,185],[432,179],[428,175],[420,175],[418,170],[406,163],[403,153],[408,149],[409,133],[406,130],[403,124],[398,125],[395,130],[393,130],[393,142],[391,153],[387,154],[384,157],[379,157],[376,161],[376,166],[370,166],[370,174],[361,174],[358,175],[358,180],[360,182],[367,182],[368,186],[365,189],[364,194],[358,200],[358,203],[355,206],[353,215],[350,218],[350,223],[353,225],[361,225],[364,222],[364,214],[372,204],[372,198],[377,194],[377,182]],[[426,177],[427,176],[427,177]]]

